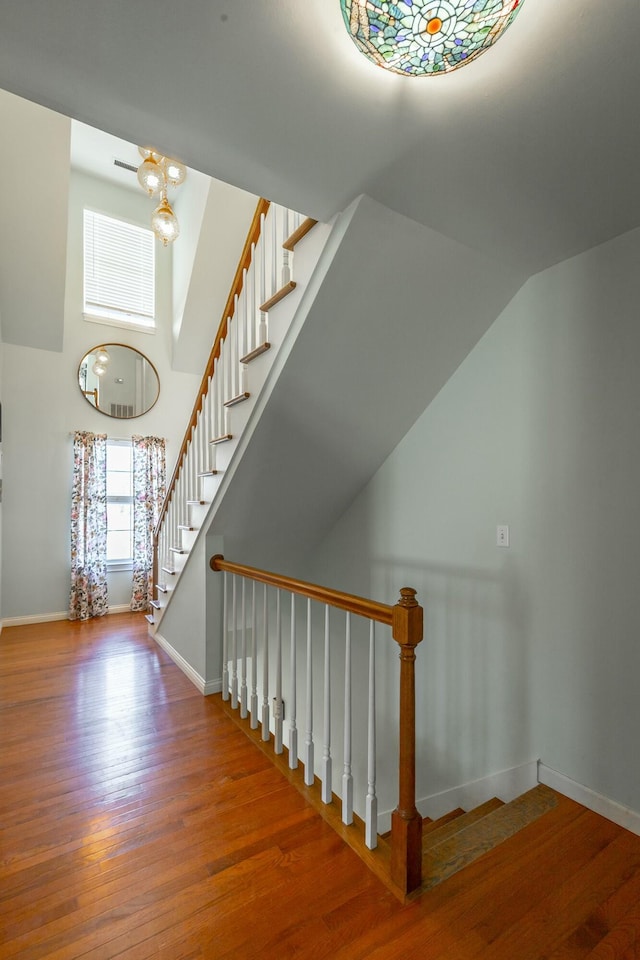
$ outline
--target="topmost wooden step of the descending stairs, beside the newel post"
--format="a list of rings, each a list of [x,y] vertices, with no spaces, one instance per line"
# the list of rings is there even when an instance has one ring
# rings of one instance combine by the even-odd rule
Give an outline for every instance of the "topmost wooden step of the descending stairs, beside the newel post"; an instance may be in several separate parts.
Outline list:
[[[430,890],[493,850],[557,805],[553,790],[539,784],[505,803],[453,837],[426,850],[422,858],[422,889]]]

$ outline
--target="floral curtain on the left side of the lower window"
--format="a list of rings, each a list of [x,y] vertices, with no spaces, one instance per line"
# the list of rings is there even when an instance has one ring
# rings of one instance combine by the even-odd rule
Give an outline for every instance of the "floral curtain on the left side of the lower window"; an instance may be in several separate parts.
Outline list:
[[[74,434],[70,620],[88,620],[109,612],[106,462],[105,434]]]

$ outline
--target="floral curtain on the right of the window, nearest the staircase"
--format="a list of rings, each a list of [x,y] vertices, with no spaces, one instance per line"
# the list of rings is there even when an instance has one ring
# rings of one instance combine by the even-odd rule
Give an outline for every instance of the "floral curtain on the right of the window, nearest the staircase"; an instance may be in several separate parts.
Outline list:
[[[132,437],[133,590],[132,610],[147,610],[153,598],[153,531],[165,496],[165,443],[162,437]]]

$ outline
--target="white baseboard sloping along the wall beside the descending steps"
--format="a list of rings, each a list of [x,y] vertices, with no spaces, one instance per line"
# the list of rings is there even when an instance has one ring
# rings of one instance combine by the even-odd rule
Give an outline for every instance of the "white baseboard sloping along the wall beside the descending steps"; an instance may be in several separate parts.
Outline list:
[[[500,770],[479,780],[471,780],[459,787],[434,793],[429,797],[418,800],[416,806],[422,817],[431,817],[437,820],[450,810],[461,807],[463,810],[472,810],[492,797],[499,797],[508,803],[519,797],[520,794],[531,790],[538,783],[538,761],[529,760],[517,767]],[[391,829],[391,810],[378,815],[378,833],[385,833]]]

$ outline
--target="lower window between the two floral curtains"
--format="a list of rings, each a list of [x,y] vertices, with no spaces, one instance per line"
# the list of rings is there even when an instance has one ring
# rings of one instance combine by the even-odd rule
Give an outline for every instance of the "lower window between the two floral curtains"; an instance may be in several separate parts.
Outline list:
[[[107,565],[131,566],[133,558],[133,448],[107,440]]]

